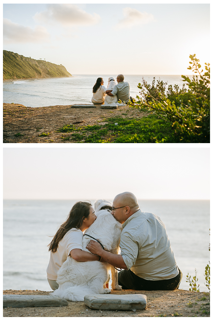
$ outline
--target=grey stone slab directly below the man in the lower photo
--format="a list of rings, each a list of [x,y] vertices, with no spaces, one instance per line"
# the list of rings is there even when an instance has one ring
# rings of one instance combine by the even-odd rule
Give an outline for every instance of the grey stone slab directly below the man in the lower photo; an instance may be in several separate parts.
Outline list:
[[[137,310],[145,309],[145,294],[94,294],[86,295],[84,303],[91,309],[98,310]]]

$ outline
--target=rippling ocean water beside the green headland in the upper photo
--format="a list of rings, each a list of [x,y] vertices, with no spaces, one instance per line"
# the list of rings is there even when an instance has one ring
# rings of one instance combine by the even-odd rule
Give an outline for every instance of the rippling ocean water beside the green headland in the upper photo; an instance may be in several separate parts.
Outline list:
[[[14,80],[3,83],[3,102],[20,103],[24,106],[48,107],[56,105],[87,104],[92,103],[92,88],[98,77],[103,77],[104,85],[107,87],[108,78],[117,75],[74,75],[71,78],[49,78],[36,80]],[[138,84],[142,77],[148,84],[152,83],[155,75],[125,75],[125,80],[130,85],[130,96],[136,98],[140,89]],[[179,85],[182,88],[183,78],[181,75],[156,75],[157,80],[168,82],[168,85]],[[189,76],[192,79],[192,76]],[[187,86],[186,86],[187,87]]]

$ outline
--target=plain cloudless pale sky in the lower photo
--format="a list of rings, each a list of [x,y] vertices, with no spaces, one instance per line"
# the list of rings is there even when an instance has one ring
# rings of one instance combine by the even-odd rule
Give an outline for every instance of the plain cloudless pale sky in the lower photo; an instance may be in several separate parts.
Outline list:
[[[3,148],[4,199],[209,199],[209,148]]]

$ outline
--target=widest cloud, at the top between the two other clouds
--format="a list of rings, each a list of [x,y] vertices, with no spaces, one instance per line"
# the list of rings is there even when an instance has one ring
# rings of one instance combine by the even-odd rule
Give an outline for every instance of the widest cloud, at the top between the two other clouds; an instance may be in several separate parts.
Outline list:
[[[75,4],[48,4],[48,10],[37,12],[34,19],[40,22],[59,22],[65,27],[93,25],[100,21],[96,13],[90,14]]]

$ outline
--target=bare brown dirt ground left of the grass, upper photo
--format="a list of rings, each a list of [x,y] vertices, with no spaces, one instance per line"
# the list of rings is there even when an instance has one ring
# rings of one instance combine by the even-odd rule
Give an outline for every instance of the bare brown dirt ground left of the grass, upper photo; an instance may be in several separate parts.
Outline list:
[[[118,115],[125,117],[122,113],[134,118],[145,116],[144,112],[128,106],[121,106],[115,110],[101,109],[100,106],[96,108],[71,108],[71,106],[30,108],[22,104],[3,103],[3,142],[75,143],[73,140],[60,139],[62,133],[56,130],[67,124],[76,126],[105,124],[105,118]],[[49,135],[39,136],[43,132],[49,132]]]

